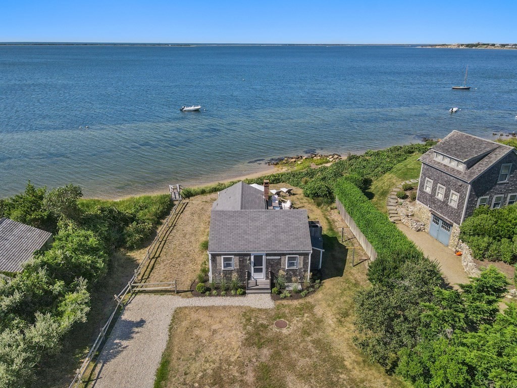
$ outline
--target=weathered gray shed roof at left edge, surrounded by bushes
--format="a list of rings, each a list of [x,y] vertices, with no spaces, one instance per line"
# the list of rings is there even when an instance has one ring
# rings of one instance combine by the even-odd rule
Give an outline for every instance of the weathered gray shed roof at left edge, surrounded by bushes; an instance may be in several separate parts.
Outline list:
[[[20,272],[22,264],[33,257],[52,237],[52,233],[9,218],[0,218],[0,271]]]

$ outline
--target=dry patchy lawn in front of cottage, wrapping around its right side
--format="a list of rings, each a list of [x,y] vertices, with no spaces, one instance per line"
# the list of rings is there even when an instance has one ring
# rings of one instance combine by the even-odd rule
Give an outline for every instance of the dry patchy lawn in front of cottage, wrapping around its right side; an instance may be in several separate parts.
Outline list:
[[[286,187],[274,185],[272,188]],[[324,228],[323,286],[273,310],[247,307],[177,309],[157,387],[404,387],[352,342],[355,292],[368,284],[367,262],[352,266],[357,245],[332,206],[317,207],[298,189],[291,197]],[[356,249],[356,263],[364,259]],[[276,329],[284,319],[286,329]]]

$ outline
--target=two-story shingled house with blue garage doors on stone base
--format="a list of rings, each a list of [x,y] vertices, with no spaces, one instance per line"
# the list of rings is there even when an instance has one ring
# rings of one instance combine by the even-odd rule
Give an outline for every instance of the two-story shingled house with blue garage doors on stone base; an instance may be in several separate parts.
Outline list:
[[[515,148],[452,131],[420,157],[415,215],[429,233],[454,248],[459,226],[477,207],[517,201]]]

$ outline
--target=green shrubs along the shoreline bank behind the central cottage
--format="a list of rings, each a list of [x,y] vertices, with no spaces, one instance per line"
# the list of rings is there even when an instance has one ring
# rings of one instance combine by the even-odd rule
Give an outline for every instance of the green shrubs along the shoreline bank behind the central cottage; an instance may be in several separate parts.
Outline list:
[[[391,170],[398,163],[406,160],[414,154],[422,154],[435,144],[428,141],[425,144],[396,145],[385,150],[367,151],[362,155],[349,155],[344,160],[332,163],[330,166],[322,166],[317,169],[306,168],[294,171],[280,172],[245,180],[246,183],[262,184],[268,179],[271,184],[286,183],[303,189],[303,194],[309,198],[324,198],[327,201],[333,199],[334,185],[344,175],[353,175],[362,189],[367,189],[373,178],[379,177]],[[185,188],[182,195],[185,198],[221,191],[237,183],[218,183],[217,185],[199,188]]]

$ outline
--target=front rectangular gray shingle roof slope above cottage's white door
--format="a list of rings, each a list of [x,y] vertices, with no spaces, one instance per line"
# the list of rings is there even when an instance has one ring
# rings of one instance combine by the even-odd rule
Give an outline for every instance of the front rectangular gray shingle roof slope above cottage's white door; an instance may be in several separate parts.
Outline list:
[[[306,210],[212,210],[209,252],[311,250]]]

